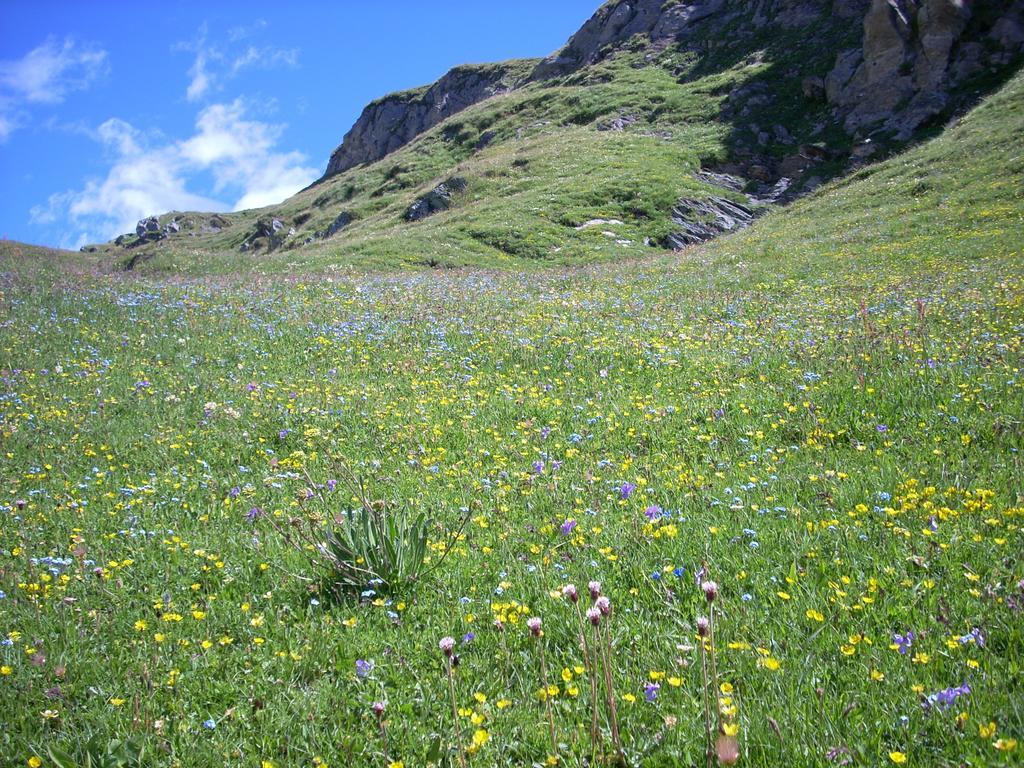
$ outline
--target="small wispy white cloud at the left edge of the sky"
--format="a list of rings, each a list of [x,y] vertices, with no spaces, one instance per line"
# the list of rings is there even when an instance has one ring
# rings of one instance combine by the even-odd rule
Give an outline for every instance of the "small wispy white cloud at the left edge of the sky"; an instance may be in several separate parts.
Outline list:
[[[87,88],[105,70],[106,51],[51,37],[22,58],[0,61],[0,89],[16,100],[56,104],[71,91]]]

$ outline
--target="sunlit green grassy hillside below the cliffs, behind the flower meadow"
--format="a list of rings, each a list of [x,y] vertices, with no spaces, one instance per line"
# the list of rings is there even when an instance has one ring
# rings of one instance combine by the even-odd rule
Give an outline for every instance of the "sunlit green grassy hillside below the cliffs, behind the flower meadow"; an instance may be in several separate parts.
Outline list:
[[[858,34],[855,25],[828,19],[813,39],[766,30],[736,42],[725,31],[720,45],[700,53],[673,47],[652,53],[635,41],[568,77],[465,110],[380,162],[331,177],[281,206],[232,214],[222,232],[111,248],[104,256],[127,263],[141,253],[135,268],[150,273],[636,257],[649,252],[645,241],[656,247],[673,231],[670,214],[681,196],[722,194],[693,173],[749,151],[752,124],[785,124],[793,134],[793,144],[759,147],[769,155],[792,155],[802,141],[828,143],[840,154],[849,146],[827,105],[807,101],[800,89],[804,75],[825,74],[836,48]],[[755,89],[749,97],[761,88],[772,99],[753,99],[740,119],[727,104],[743,87]],[[599,130],[621,116],[636,122],[622,132]],[[808,176],[827,178],[841,168],[825,161]],[[452,210],[423,222],[403,220],[416,199],[456,175],[468,189]],[[350,226],[304,245],[343,212],[354,218]],[[241,253],[256,222],[270,216],[294,226],[295,237],[273,253]],[[602,234],[609,227],[575,229],[596,218],[623,223],[610,228],[614,237]]]

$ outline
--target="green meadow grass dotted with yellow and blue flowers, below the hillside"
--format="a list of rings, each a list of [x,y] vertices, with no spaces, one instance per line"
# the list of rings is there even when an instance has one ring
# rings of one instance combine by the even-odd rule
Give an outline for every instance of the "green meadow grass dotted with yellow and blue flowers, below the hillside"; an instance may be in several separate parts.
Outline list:
[[[579,765],[589,683],[550,593],[594,579],[630,763],[702,764],[701,563],[742,764],[1017,764],[993,743],[1024,738],[1022,99],[1018,77],[935,141],[677,256],[184,280],[4,244],[0,765],[129,736],[182,768],[413,766],[437,743],[454,765],[437,642],[469,632],[472,764],[543,763],[528,615]],[[609,164],[643,141],[573,130]],[[540,143],[530,164],[556,162]],[[481,173],[453,221],[492,243],[472,211],[520,183]],[[551,210],[575,220],[587,195]],[[339,461],[429,512],[437,545],[469,510],[415,589],[332,599],[246,521],[308,513],[304,473]],[[354,504],[343,488],[331,510]],[[976,629],[983,646],[961,642]]]

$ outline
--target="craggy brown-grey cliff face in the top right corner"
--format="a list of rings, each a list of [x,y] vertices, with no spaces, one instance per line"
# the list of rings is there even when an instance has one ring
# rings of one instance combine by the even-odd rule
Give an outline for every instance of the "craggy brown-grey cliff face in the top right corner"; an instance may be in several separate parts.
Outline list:
[[[999,31],[1021,24],[1024,2],[993,5],[1002,6],[994,24],[986,31],[979,22],[982,29],[972,36],[987,32],[998,49],[986,51],[964,39],[972,22],[968,0],[871,0],[862,46],[841,52],[825,79],[828,101],[844,128],[881,129],[905,141],[949,106],[950,91],[984,67],[986,54],[998,66],[1020,53],[1024,35],[1015,40]]]

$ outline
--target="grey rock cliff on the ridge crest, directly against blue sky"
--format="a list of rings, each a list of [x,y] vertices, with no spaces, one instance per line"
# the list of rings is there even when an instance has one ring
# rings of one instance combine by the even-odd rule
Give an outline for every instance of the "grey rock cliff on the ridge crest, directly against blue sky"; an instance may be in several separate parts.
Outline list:
[[[510,90],[524,69],[521,61],[456,67],[429,87],[374,101],[334,151],[324,178],[380,160],[467,106]]]

